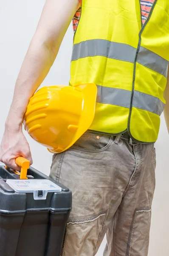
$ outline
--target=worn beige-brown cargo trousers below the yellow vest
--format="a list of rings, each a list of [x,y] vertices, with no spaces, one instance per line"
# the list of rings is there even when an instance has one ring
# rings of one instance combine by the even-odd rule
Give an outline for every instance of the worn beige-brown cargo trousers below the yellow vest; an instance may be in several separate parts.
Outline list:
[[[147,256],[155,189],[154,145],[124,136],[85,133],[56,154],[51,177],[73,194],[62,256]]]

